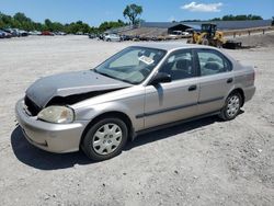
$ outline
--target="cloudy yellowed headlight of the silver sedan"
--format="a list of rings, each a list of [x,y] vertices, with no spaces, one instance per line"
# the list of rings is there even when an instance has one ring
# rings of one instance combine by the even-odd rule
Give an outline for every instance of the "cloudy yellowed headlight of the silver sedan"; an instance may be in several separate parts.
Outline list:
[[[48,106],[42,110],[37,117],[49,123],[71,123],[75,119],[75,113],[67,106]]]

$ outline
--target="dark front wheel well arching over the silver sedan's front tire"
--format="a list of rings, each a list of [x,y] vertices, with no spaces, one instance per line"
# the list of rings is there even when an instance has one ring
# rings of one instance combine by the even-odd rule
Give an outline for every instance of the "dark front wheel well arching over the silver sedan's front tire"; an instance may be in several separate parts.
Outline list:
[[[116,117],[116,118],[119,118],[122,121],[124,121],[124,123],[126,124],[127,128],[128,128],[128,137],[130,138],[130,135],[133,134],[134,131],[134,128],[133,128],[133,124],[132,124],[132,121],[130,118],[125,114],[125,113],[122,113],[122,112],[107,112],[107,113],[103,113],[103,114],[100,114],[99,116],[94,117],[84,128],[83,133],[82,133],[82,136],[81,136],[81,141],[80,141],[80,146],[82,144],[82,140],[85,136],[85,134],[88,133],[88,130],[92,127],[92,125],[94,125],[95,123],[98,123],[99,121],[103,119],[103,118],[106,118],[106,117]],[[80,147],[79,146],[79,147]]]

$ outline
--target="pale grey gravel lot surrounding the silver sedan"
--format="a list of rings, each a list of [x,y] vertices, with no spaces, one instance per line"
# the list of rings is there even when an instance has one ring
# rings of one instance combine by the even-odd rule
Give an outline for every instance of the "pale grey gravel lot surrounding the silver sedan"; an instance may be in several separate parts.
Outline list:
[[[273,45],[228,50],[256,70],[255,96],[235,121],[209,117],[150,133],[98,163],[26,142],[13,110],[30,83],[92,68],[129,44],[84,36],[0,41],[1,205],[274,205]]]

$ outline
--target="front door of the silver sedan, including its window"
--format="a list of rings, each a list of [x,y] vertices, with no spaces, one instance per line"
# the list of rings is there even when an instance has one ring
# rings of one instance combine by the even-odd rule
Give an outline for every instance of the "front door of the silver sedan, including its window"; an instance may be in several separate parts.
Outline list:
[[[195,116],[197,113],[198,85],[191,49],[171,54],[159,72],[169,73],[172,81],[146,87],[145,127]]]

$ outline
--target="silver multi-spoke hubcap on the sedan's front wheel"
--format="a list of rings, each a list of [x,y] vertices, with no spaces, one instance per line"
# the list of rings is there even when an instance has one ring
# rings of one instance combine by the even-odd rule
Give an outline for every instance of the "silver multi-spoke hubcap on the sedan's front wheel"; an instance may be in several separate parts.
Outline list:
[[[122,129],[114,123],[100,127],[92,138],[92,147],[99,154],[109,154],[117,149],[122,141]]]

